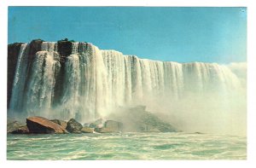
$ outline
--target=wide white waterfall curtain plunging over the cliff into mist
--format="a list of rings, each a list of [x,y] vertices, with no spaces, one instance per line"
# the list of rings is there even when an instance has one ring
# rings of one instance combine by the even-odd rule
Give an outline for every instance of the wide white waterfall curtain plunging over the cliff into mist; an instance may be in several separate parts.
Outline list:
[[[88,122],[118,107],[145,105],[172,119],[180,115],[181,120],[194,119],[195,111],[198,116],[214,113],[216,107],[216,115],[229,120],[227,111],[236,96],[246,99],[241,79],[217,63],[151,61],[91,43],[32,41],[19,49],[10,81],[9,115]],[[218,113],[219,108],[226,112]]]

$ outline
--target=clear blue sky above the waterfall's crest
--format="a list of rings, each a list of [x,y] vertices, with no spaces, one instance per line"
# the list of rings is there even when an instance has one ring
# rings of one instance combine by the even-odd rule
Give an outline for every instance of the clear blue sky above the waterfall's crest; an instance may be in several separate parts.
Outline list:
[[[8,43],[68,38],[159,61],[247,61],[247,8],[9,7]]]

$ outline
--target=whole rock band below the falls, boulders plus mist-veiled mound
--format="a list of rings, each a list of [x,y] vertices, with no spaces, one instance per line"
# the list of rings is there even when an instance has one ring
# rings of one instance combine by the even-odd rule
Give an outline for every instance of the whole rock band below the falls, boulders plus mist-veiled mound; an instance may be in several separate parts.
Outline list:
[[[92,123],[80,124],[75,119],[63,121],[60,119],[45,119],[33,116],[26,119],[26,125],[17,121],[9,121],[8,133],[12,134],[65,134],[65,133],[113,133],[123,131],[133,132],[176,132],[172,125],[162,121],[153,113],[145,111],[145,107],[128,108],[128,113],[122,118],[97,119]],[[119,121],[121,122],[119,122]]]

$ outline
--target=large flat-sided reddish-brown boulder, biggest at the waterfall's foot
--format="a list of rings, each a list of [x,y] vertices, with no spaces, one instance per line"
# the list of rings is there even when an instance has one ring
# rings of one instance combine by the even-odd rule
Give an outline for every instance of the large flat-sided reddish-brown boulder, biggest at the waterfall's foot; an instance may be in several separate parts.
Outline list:
[[[30,133],[35,134],[63,134],[67,130],[63,129],[61,125],[57,125],[49,119],[43,117],[30,117],[26,119],[26,126]]]

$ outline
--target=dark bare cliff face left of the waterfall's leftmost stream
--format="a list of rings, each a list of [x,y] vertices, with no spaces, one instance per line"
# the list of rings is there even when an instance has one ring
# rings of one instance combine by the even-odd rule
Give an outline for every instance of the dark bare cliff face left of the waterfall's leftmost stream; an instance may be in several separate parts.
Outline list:
[[[8,45],[8,76],[7,76],[7,107],[12,95],[12,88],[15,78],[15,70],[17,66],[18,56],[20,54],[20,46],[22,43],[11,43]]]

